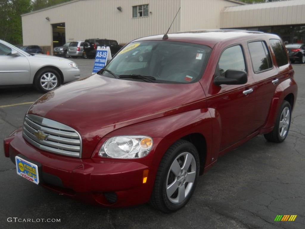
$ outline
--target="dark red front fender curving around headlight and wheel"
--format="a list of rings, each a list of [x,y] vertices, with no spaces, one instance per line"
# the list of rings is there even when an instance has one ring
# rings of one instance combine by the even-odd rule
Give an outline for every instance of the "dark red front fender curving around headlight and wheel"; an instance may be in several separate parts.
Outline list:
[[[151,136],[154,139],[151,152],[144,158],[130,160],[137,160],[147,165],[150,168],[149,180],[154,181],[160,161],[167,149],[177,140],[194,133],[201,134],[205,138],[206,157],[209,158],[212,150],[212,121],[210,112],[206,108],[155,118],[114,130],[102,138],[94,154],[97,155],[102,144],[113,136]],[[204,159],[205,162],[201,163],[210,162],[209,159]],[[153,182],[148,185],[153,185]]]

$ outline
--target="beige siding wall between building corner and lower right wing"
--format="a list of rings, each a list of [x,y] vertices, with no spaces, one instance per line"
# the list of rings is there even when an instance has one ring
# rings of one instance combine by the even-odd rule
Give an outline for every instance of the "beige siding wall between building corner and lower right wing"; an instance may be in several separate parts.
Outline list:
[[[181,0],[182,31],[220,28],[219,12],[227,6],[240,5],[224,0]]]

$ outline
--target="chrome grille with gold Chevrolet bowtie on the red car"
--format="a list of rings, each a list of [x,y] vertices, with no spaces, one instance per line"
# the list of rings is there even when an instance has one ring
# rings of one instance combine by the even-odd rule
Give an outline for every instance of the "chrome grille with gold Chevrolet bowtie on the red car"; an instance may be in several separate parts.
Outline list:
[[[81,136],[73,128],[37,115],[26,115],[23,137],[35,147],[55,154],[81,157]]]

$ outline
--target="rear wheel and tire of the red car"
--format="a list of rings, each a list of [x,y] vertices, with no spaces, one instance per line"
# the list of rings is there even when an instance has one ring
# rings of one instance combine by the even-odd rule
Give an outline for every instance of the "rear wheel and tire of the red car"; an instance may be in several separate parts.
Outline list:
[[[278,113],[273,131],[264,134],[264,137],[271,142],[282,142],[287,137],[291,122],[291,106],[284,100]]]

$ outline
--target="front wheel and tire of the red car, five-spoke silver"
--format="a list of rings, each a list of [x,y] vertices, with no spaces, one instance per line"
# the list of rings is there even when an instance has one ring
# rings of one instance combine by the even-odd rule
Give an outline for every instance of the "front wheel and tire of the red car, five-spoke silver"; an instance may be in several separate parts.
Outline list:
[[[188,141],[178,140],[164,154],[155,179],[150,204],[174,212],[191,198],[199,176],[199,154]]]

